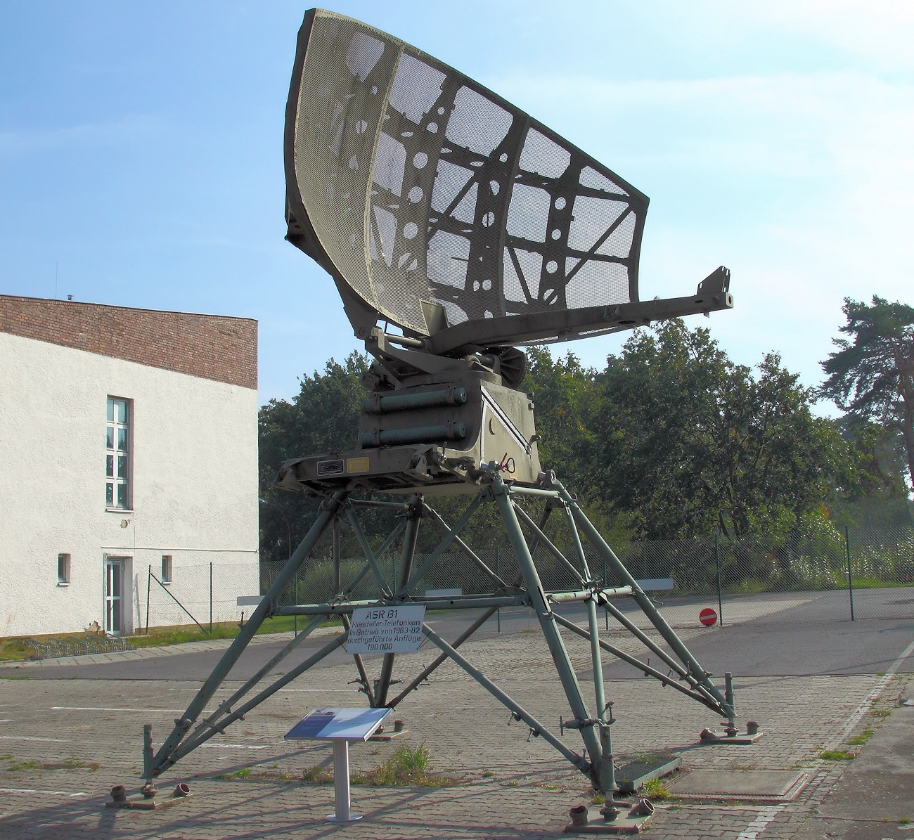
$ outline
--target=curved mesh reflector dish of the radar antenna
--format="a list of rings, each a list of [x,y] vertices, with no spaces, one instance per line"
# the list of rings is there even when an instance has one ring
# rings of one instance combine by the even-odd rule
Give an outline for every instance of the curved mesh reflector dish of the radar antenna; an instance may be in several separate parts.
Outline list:
[[[292,240],[407,333],[638,299],[646,197],[490,90],[351,18],[305,19],[286,168],[290,227],[311,228]]]

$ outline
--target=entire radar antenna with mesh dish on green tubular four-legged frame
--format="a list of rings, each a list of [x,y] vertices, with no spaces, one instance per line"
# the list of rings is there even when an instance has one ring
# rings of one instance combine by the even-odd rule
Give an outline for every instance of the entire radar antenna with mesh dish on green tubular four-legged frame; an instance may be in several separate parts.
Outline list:
[[[286,238],[333,278],[373,357],[363,379],[367,396],[351,450],[290,453],[297,457],[282,465],[275,486],[321,498],[320,512],[174,731],[158,750],[147,742],[145,775],[166,771],[345,646],[359,690],[377,709],[399,707],[451,660],[605,794],[604,817],[624,820],[614,800],[614,718],[602,657],[629,663],[724,718],[725,738],[737,733],[731,681],[726,675],[718,686],[664,621],[558,480],[561,465],[543,468],[534,399],[519,389],[526,374],[520,346],[727,310],[729,272],[711,271],[691,295],[640,300],[647,197],[493,91],[348,17],[306,14],[285,132]],[[617,144],[624,143],[622,134]],[[431,501],[443,494],[465,502],[452,523]],[[386,535],[377,532],[382,513],[393,517]],[[487,561],[467,537],[471,521],[484,516],[500,529],[506,567]],[[344,527],[361,547],[361,564],[340,556],[337,528]],[[438,539],[423,555],[420,531]],[[291,603],[292,580],[330,534],[333,597]],[[384,562],[391,555],[392,574]],[[467,569],[479,582],[465,592]],[[574,604],[583,621],[559,609]],[[568,701],[555,715],[558,734],[458,650],[505,606],[536,617],[550,673]],[[473,611],[474,618],[445,639],[424,618],[442,610]],[[409,643],[424,640],[440,654],[395,680],[395,662],[411,665],[402,652],[416,648],[377,638],[366,645],[365,611],[402,611]],[[253,634],[276,615],[311,623],[204,716]],[[249,697],[327,616],[340,616],[343,631]],[[644,654],[600,638],[601,621],[630,633]],[[590,699],[569,656],[572,637],[590,652]],[[371,653],[383,654],[374,677],[363,656]],[[405,686],[392,696],[398,681]],[[579,749],[559,737],[565,729],[577,730]]]

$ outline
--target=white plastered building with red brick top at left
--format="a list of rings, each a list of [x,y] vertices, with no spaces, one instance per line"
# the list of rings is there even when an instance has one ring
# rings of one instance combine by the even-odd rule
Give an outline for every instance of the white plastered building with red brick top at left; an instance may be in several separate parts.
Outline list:
[[[237,621],[257,323],[0,295],[0,636]]]

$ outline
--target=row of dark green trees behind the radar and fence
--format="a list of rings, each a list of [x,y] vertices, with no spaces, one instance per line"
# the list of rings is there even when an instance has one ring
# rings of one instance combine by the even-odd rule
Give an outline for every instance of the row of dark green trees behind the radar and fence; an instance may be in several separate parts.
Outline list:
[[[522,388],[534,395],[540,460],[622,538],[777,538],[887,500],[906,506],[914,310],[874,298],[845,301],[845,315],[852,338],[835,339],[821,388],[803,387],[777,354],[737,365],[706,328],[681,320],[636,330],[602,369],[527,348]],[[356,448],[368,364],[358,353],[331,359],[292,400],[260,409],[263,559],[285,558],[317,509],[274,492],[274,476],[287,459]],[[816,416],[824,398],[844,417]]]

